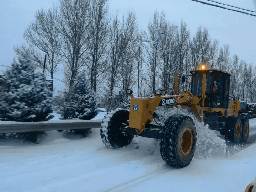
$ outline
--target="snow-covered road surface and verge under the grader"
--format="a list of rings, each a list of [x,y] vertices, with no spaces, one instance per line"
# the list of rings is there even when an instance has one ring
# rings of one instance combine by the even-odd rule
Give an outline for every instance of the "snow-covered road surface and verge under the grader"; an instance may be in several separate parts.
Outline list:
[[[255,130],[256,119],[250,126]],[[234,154],[205,155],[197,152],[190,165],[174,169],[162,160],[154,139],[136,137],[125,148],[110,149],[99,128],[72,139],[49,131],[37,145],[0,140],[0,192],[240,192],[255,178],[256,144]]]

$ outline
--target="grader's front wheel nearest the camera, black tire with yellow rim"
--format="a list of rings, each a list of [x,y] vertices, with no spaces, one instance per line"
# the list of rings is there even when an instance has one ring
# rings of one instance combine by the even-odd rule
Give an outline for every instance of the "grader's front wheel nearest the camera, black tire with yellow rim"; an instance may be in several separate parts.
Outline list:
[[[170,116],[163,127],[160,140],[162,159],[172,167],[186,167],[196,150],[196,127],[191,117]]]

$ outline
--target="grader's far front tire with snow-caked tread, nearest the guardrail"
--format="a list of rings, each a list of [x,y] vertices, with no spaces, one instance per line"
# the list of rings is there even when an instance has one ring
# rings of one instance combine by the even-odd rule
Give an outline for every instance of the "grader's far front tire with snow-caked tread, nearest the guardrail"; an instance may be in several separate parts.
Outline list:
[[[122,128],[128,125],[129,111],[116,109],[108,112],[101,122],[100,135],[102,142],[110,148],[129,145],[134,135],[123,133]]]

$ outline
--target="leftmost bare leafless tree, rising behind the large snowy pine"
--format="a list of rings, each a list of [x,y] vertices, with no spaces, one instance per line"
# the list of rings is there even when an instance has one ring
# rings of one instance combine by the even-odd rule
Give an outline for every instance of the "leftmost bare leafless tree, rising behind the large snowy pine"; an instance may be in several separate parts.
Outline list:
[[[58,69],[59,63],[62,61],[60,55],[61,42],[59,33],[56,28],[57,12],[55,9],[44,11],[43,9],[36,12],[36,21],[32,23],[24,32],[23,37],[30,46],[25,45],[15,47],[17,55],[22,55],[29,50],[31,59],[34,60],[40,68],[44,67],[44,57],[38,52],[47,55],[46,70],[49,71],[51,78]]]

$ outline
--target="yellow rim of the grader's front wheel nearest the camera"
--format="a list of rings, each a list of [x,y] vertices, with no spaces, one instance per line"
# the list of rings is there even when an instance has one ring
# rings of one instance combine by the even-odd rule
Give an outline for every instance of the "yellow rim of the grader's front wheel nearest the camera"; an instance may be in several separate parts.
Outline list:
[[[186,156],[190,153],[193,145],[193,134],[189,127],[186,127],[182,133],[180,138],[180,149],[181,153]]]

